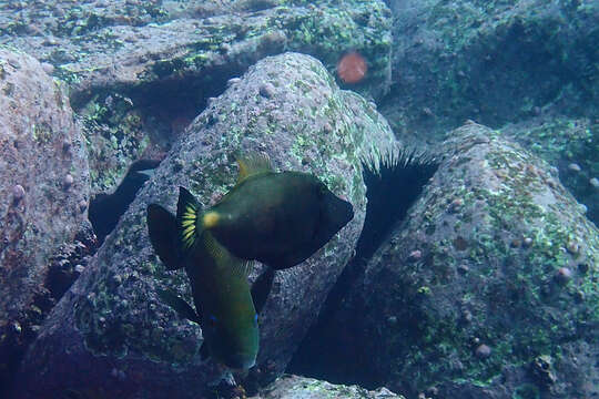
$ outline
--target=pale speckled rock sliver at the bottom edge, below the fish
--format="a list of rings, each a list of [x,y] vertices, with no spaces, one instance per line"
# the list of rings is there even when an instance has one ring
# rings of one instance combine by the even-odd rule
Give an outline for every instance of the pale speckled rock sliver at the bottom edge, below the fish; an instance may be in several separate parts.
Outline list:
[[[386,388],[366,390],[357,386],[333,385],[313,378],[284,375],[250,399],[403,399]]]

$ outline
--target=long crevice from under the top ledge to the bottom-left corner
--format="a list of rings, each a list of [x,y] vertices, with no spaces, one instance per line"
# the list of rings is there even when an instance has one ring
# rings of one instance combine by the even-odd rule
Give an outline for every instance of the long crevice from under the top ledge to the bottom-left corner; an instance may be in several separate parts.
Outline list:
[[[19,362],[28,346],[38,336],[45,316],[69,290],[91,256],[116,226],[139,190],[150,178],[151,173],[148,172],[158,167],[179,135],[206,108],[209,99],[221,94],[229,79],[241,75],[244,70],[245,68],[238,64],[226,65],[214,68],[202,76],[187,74],[135,88],[92,88],[71,95],[71,105],[80,115],[92,102],[105,108],[101,115],[93,115],[98,117],[94,122],[99,125],[119,124],[124,114],[132,110],[138,111],[142,116],[141,129],[151,142],[148,153],[154,158],[133,162],[112,194],[92,195],[89,205],[91,226],[82,226],[73,243],[64,244],[57,250],[49,260],[44,285],[40,287],[30,309],[19,320],[0,329],[0,397],[10,391]],[[156,154],[160,156],[155,156]]]

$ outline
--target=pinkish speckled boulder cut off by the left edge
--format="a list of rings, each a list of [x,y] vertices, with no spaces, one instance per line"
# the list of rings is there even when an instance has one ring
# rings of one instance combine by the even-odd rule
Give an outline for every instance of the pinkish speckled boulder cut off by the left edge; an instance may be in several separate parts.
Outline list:
[[[0,49],[0,386],[45,309],[51,255],[85,219],[83,137],[60,83],[33,58]],[[43,304],[43,305],[42,305]]]

